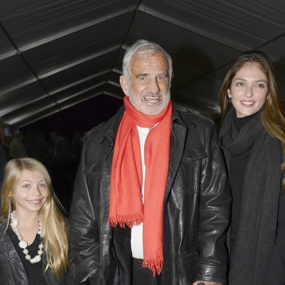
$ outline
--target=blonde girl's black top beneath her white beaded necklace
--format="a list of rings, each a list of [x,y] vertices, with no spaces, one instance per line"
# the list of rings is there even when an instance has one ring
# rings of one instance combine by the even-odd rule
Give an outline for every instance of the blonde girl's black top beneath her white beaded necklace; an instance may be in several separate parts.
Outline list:
[[[25,254],[23,253],[23,249],[19,247],[19,240],[16,233],[12,230],[11,227],[8,227],[7,232],[20,256],[26,270],[28,273],[29,285],[48,285],[47,281],[43,275],[43,261],[42,259],[37,263],[30,263],[29,260],[25,258]],[[28,255],[33,258],[38,255],[37,252],[39,250],[38,246],[41,242],[40,236],[36,234],[36,237],[32,244],[27,246]],[[42,257],[42,256],[41,256]]]

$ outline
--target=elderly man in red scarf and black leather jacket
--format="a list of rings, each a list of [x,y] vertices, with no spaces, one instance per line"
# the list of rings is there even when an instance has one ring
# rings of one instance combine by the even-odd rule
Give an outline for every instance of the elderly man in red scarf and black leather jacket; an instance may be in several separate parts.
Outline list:
[[[85,137],[69,284],[222,285],[230,193],[213,123],[172,107],[171,57],[126,52],[124,106]]]

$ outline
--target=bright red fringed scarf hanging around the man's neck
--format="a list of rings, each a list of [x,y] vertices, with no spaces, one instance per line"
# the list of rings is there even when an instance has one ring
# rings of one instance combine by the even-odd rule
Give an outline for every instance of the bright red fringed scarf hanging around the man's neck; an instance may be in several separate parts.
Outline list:
[[[118,128],[111,171],[109,225],[131,228],[143,222],[143,264],[160,274],[163,256],[163,203],[169,170],[172,103],[158,115],[136,110],[124,97],[126,111]],[[145,181],[142,203],[142,157],[137,126],[153,127],[144,145]]]

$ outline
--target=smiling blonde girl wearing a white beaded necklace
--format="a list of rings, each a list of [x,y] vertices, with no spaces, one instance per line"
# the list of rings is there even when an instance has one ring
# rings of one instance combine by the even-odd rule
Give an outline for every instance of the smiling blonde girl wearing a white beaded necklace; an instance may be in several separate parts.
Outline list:
[[[7,163],[1,207],[0,283],[65,284],[67,219],[39,161],[21,158]]]

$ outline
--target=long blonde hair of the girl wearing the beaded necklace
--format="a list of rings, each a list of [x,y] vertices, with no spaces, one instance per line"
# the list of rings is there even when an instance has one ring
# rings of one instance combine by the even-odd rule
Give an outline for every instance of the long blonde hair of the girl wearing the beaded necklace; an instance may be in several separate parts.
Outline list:
[[[44,273],[50,267],[58,280],[67,273],[70,266],[68,259],[68,220],[67,214],[60,204],[52,187],[49,172],[39,161],[33,158],[12,159],[5,167],[1,187],[0,222],[9,223],[9,215],[15,209],[14,199],[10,195],[18,184],[23,170],[28,170],[40,176],[49,192],[49,196],[39,211],[42,223],[42,241],[46,253]]]

